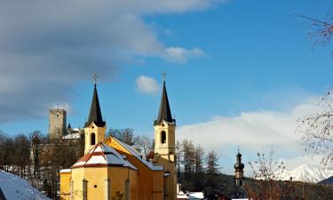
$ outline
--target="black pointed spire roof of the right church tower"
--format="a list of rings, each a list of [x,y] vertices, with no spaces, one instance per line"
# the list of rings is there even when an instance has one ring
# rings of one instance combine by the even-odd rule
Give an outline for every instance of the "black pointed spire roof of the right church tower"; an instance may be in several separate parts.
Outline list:
[[[165,81],[163,81],[163,91],[162,91],[160,110],[158,111],[158,116],[154,122],[154,125],[161,124],[163,120],[168,123],[176,123],[176,120],[173,119],[171,116],[168,94],[165,88]]]

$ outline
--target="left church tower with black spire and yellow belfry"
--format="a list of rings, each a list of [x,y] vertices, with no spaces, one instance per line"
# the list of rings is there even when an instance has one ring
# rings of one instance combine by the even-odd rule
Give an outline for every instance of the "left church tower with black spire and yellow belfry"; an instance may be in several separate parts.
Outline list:
[[[99,107],[99,95],[97,94],[96,78],[91,100],[91,110],[88,121],[84,124],[84,154],[97,143],[104,142],[107,129],[106,122],[103,121],[102,113]]]

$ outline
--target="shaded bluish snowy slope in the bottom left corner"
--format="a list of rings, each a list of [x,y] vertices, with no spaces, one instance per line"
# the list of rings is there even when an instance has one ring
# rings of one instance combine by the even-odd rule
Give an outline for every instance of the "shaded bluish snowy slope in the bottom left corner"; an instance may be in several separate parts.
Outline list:
[[[49,200],[27,180],[4,171],[0,171],[0,188],[7,200]]]

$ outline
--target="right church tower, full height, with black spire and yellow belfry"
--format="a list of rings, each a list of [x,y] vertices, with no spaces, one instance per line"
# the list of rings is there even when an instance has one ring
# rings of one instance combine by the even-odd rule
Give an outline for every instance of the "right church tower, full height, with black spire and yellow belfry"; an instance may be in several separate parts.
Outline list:
[[[163,91],[160,110],[154,122],[155,157],[157,165],[164,168],[164,199],[176,199],[175,129],[176,120],[172,118],[163,72]]]

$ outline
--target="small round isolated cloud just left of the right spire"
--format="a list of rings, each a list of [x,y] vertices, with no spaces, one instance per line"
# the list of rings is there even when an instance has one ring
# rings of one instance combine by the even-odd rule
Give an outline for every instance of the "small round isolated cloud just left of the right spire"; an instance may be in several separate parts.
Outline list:
[[[143,93],[157,93],[158,83],[157,81],[149,76],[139,76],[136,81],[137,90]]]

